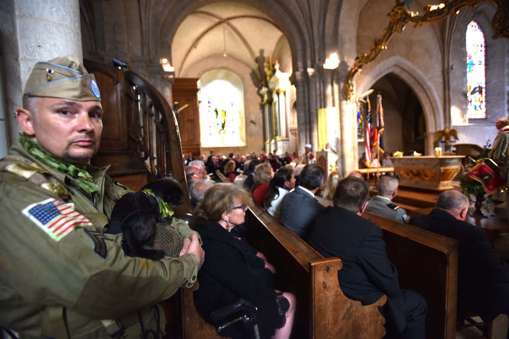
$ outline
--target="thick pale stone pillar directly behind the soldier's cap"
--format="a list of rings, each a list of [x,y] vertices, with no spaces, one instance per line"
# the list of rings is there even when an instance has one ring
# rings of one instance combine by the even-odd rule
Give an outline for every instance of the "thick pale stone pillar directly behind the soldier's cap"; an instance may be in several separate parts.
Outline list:
[[[79,1],[2,0],[0,30],[5,39],[2,73],[12,144],[20,132],[12,112],[22,104],[24,83],[34,64],[69,54],[82,58]]]

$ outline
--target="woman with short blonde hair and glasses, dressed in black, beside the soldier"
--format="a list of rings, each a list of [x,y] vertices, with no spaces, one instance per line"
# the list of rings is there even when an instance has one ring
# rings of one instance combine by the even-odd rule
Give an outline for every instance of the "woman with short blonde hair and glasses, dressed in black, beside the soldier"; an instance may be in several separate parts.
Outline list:
[[[251,203],[249,193],[232,183],[218,183],[207,190],[196,208],[197,226],[206,253],[199,273],[200,288],[194,292],[196,310],[210,323],[210,313],[239,298],[257,306],[257,320],[262,338],[289,338],[295,314],[295,296],[266,286],[249,266],[249,260],[230,234],[244,223]],[[215,324],[217,325],[217,324]],[[234,323],[221,335],[246,338],[242,323]]]

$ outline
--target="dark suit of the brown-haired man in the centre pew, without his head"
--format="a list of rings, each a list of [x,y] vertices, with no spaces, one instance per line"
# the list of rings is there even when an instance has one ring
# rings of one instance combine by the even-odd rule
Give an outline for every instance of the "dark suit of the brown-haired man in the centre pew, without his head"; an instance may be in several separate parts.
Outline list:
[[[324,257],[342,260],[343,268],[337,271],[337,279],[350,299],[369,305],[387,295],[386,318],[392,319],[390,324],[398,333],[407,326],[406,318],[412,318],[405,310],[423,303],[419,317],[426,314],[426,302],[420,295],[413,291],[404,294],[400,289],[398,271],[387,256],[382,230],[369,220],[329,206],[317,215],[307,242]],[[419,324],[422,329],[417,332],[423,333],[424,320]]]

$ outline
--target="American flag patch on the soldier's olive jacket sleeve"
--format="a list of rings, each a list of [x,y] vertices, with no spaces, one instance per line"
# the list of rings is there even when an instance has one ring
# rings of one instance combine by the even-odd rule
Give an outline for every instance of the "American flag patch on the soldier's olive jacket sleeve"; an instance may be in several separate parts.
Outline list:
[[[52,198],[32,204],[22,213],[55,241],[62,239],[74,227],[92,225],[90,220],[74,210],[73,204]]]

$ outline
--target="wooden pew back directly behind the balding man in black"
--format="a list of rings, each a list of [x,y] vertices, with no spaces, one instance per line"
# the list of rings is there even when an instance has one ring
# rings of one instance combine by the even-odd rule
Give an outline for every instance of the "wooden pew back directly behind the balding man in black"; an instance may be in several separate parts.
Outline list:
[[[456,338],[458,241],[369,212],[362,217],[382,229],[400,287],[428,302],[427,337]]]

